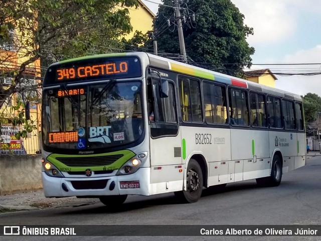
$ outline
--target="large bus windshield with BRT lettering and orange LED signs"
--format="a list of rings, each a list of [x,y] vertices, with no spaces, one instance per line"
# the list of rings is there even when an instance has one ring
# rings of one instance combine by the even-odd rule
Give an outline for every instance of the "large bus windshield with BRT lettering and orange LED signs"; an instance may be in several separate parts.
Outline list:
[[[46,89],[47,148],[99,149],[137,140],[143,132],[141,83],[116,82]]]

